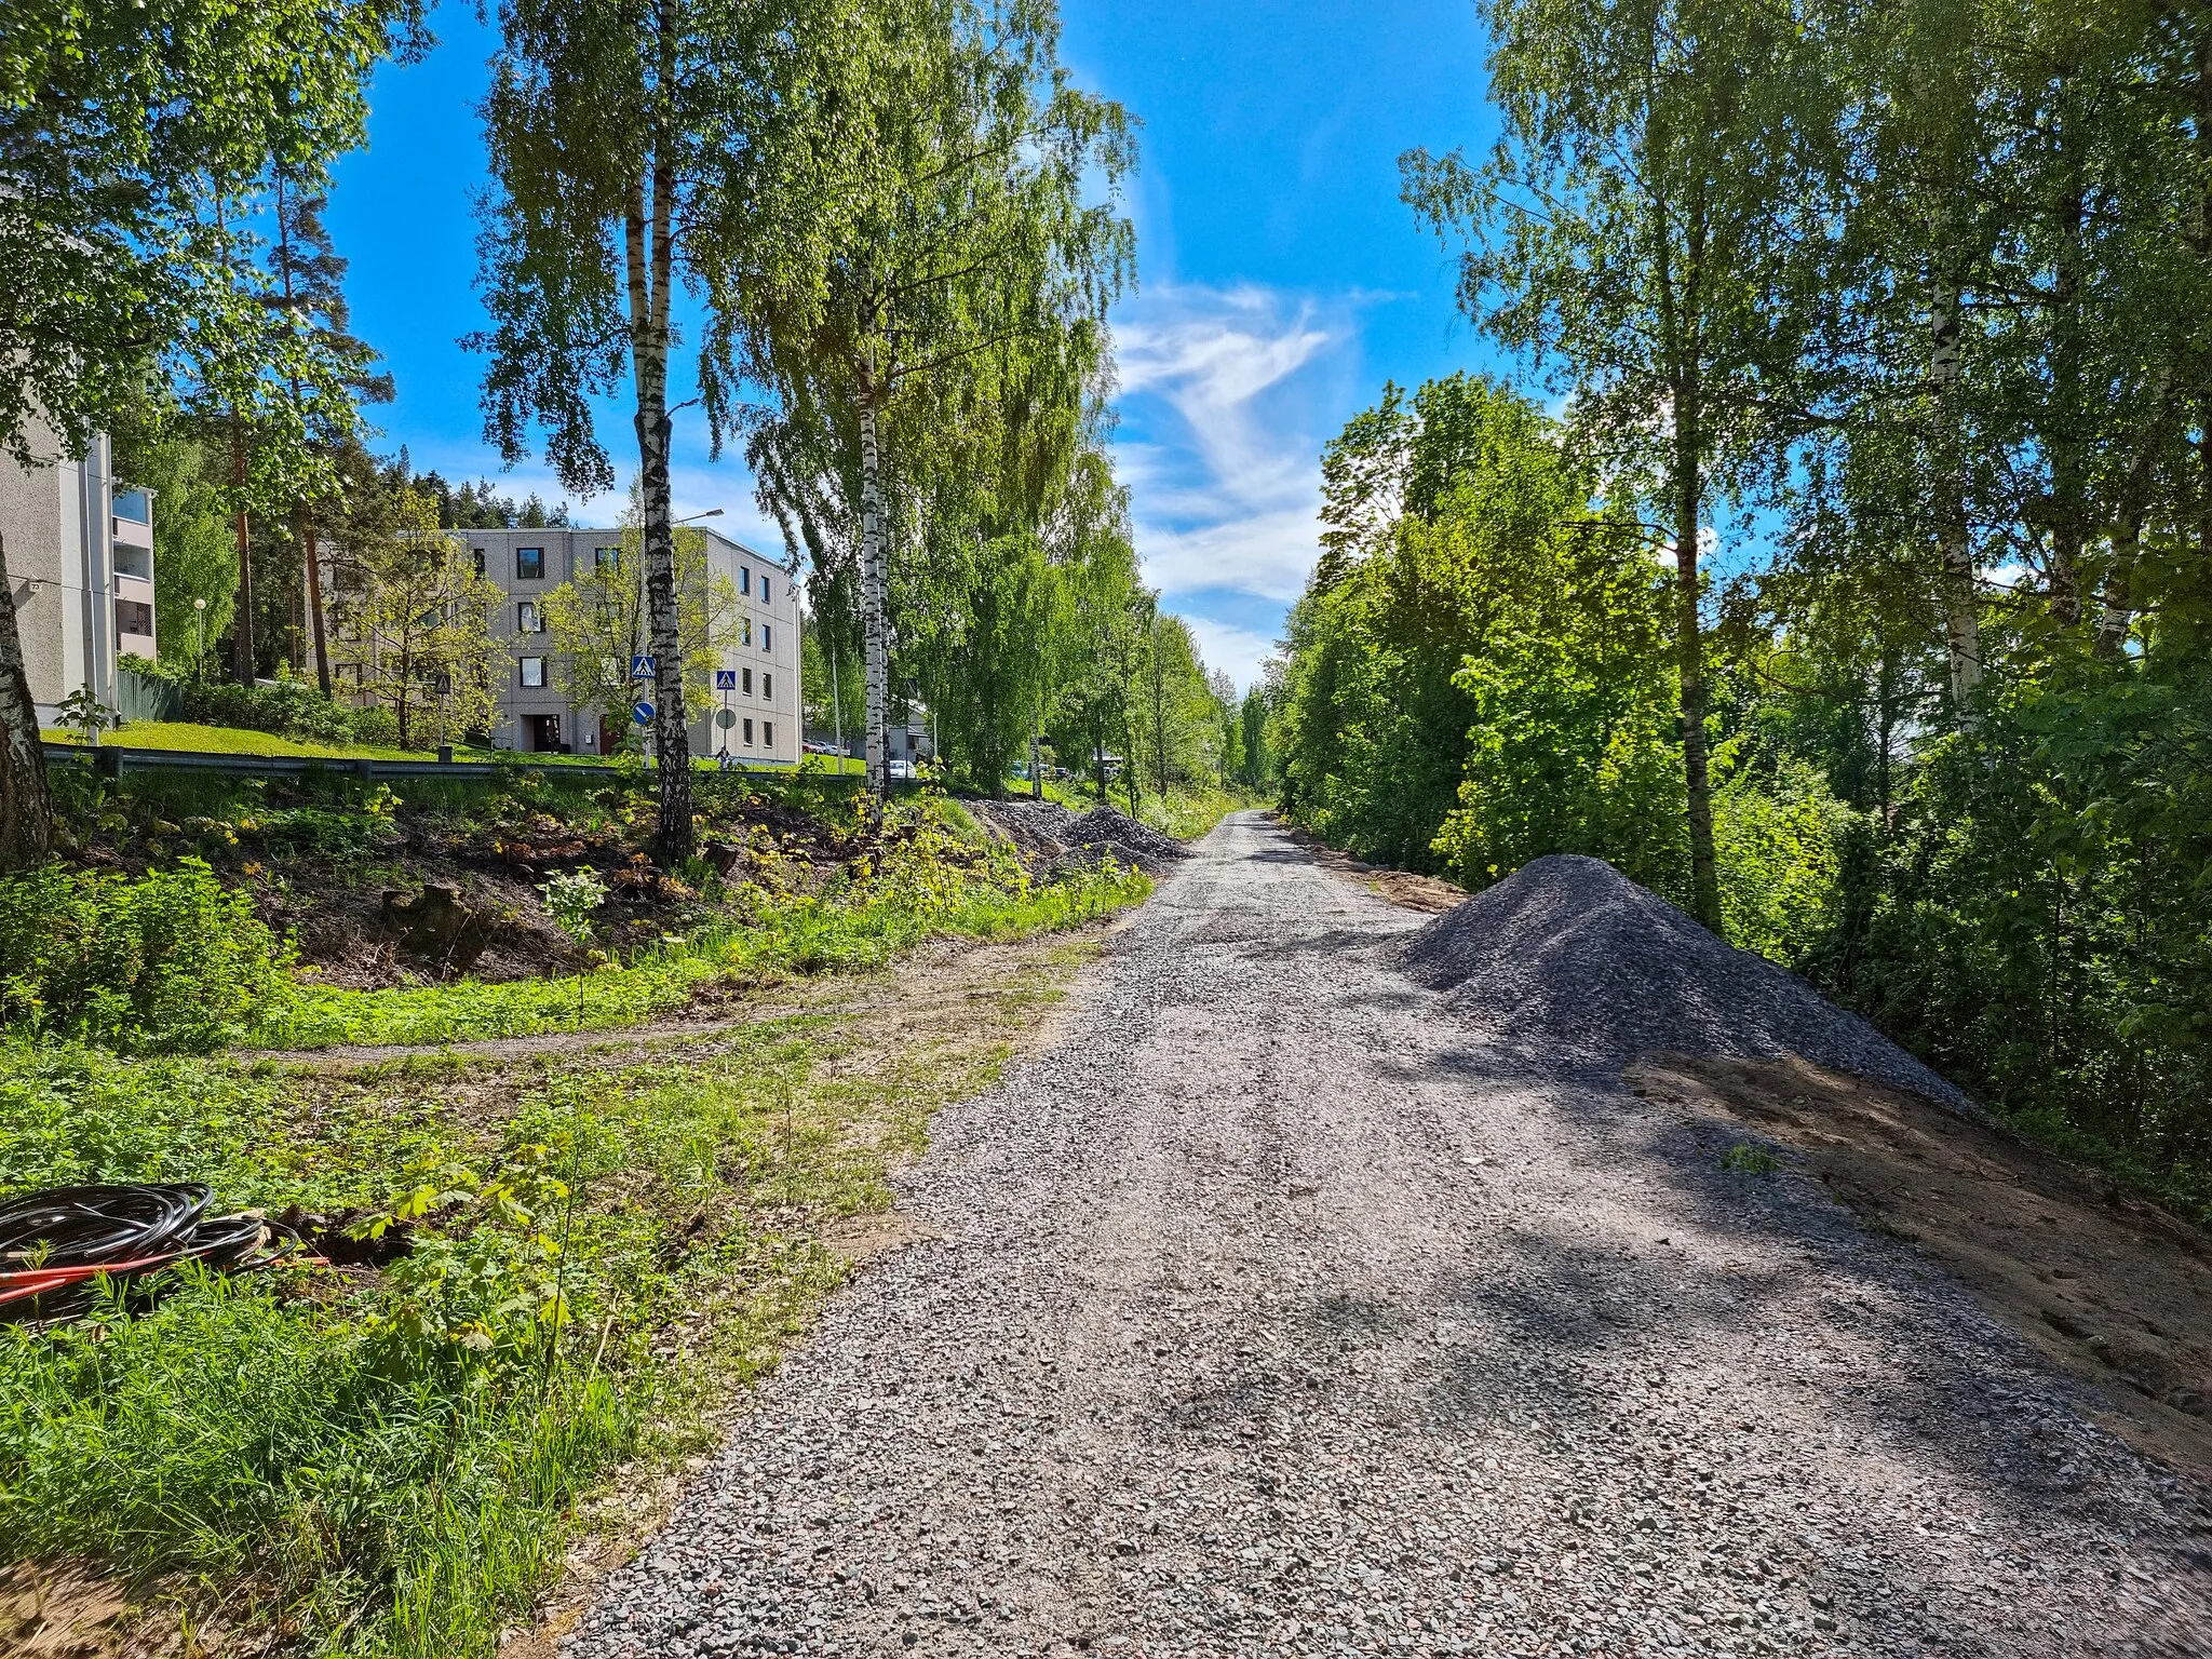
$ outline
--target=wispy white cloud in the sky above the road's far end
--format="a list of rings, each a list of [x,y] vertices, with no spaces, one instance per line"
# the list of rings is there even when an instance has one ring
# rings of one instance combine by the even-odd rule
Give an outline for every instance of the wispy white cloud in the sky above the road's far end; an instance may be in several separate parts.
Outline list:
[[[1318,411],[1352,338],[1349,314],[1256,285],[1164,288],[1117,319],[1128,434],[1117,465],[1137,551],[1170,602],[1225,591],[1287,604],[1305,588],[1318,555]],[[1256,633],[1210,626],[1223,646],[1241,635],[1237,655],[1259,661]]]

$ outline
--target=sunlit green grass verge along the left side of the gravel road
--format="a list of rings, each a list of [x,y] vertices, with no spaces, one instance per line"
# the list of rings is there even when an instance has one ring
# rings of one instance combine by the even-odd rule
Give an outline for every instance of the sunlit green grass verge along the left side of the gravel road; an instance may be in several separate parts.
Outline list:
[[[929,936],[1066,927],[1135,874],[1031,885],[929,814],[816,898],[577,980],[319,991],[263,1040],[456,1042],[611,1029],[710,980],[790,975],[799,1013],[338,1075],[248,1057],[0,1044],[0,1190],[208,1181],[226,1208],[398,1217],[380,1272],[184,1276],[150,1310],[0,1327],[0,1559],[88,1559],[179,1617],[288,1650],[489,1659],[617,1464],[697,1447],[841,1279],[830,1230],[889,1203],[929,1113],[995,1077],[1079,947],[956,1013],[845,1009],[834,969]],[[834,1064],[830,1064],[834,1062]],[[7,1630],[0,1630],[4,1646]]]

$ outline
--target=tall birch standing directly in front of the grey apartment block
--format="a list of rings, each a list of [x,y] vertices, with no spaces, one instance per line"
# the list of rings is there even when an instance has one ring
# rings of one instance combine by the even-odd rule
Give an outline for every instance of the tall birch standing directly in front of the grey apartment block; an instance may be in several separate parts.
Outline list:
[[[838,197],[825,84],[852,18],[794,0],[502,0],[482,113],[493,190],[480,288],[491,330],[484,431],[515,462],[544,429],[566,489],[615,473],[593,396],[628,383],[637,438],[646,639],[655,659],[657,852],[692,852],[690,732],[670,509],[677,285],[706,294],[697,396],[717,425],[748,321],[732,270],[805,292]],[[794,272],[799,272],[794,276]]]

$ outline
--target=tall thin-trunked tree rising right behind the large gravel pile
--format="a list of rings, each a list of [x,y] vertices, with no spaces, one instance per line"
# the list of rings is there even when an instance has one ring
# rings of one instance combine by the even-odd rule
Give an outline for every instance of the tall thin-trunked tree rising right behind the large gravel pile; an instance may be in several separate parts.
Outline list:
[[[1626,484],[1648,469],[1674,560],[1690,900],[1721,925],[1699,575],[1708,509],[1801,416],[1825,241],[1816,40],[1765,0],[1486,0],[1504,137],[1482,168],[1402,157],[1405,197],[1467,230],[1460,301],[1575,392]]]

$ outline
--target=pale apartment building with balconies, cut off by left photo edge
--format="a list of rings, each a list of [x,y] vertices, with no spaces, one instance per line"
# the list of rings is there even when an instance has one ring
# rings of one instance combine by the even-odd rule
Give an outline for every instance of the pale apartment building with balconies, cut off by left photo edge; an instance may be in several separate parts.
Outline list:
[[[69,460],[31,431],[33,467],[0,453],[0,549],[40,721],[84,686],[117,706],[117,657],[155,655],[153,498],[115,478],[106,436]]]

